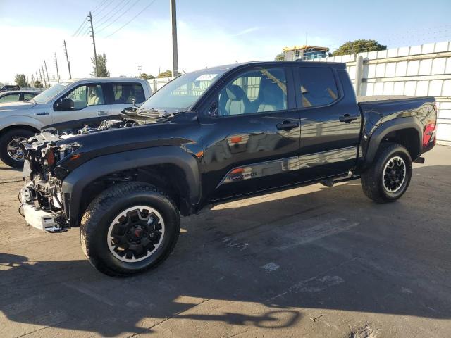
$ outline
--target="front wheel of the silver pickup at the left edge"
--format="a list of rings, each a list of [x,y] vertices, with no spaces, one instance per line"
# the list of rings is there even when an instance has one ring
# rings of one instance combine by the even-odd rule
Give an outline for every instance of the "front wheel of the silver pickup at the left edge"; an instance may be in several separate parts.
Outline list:
[[[25,157],[18,143],[26,141],[35,133],[26,129],[12,129],[0,137],[0,159],[13,168],[23,168]]]

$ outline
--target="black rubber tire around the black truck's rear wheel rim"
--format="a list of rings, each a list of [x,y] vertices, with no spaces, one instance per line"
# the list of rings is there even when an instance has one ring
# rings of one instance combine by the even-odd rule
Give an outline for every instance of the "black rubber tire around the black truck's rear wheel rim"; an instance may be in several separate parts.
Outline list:
[[[388,192],[383,184],[383,170],[385,165],[393,159],[395,156],[399,156],[405,163],[406,175],[405,180],[401,184],[399,190],[396,192]],[[371,167],[368,168],[361,175],[362,189],[366,196],[377,203],[393,202],[399,199],[407,187],[409,187],[410,180],[412,178],[412,158],[410,158],[409,151],[401,144],[386,143],[381,144]]]

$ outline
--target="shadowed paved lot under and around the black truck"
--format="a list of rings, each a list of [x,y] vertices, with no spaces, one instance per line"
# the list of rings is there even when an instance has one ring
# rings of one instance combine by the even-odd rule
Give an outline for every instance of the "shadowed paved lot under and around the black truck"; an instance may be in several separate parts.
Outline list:
[[[394,204],[351,181],[183,218],[166,263],[126,279],[78,229],[27,227],[1,164],[1,337],[451,337],[451,147],[425,157]]]

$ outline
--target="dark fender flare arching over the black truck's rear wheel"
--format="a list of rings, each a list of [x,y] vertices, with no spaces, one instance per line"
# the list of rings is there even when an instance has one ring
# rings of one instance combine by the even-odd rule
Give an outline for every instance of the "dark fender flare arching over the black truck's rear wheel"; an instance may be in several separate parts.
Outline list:
[[[379,145],[381,144],[383,138],[387,136],[390,132],[395,132],[397,130],[404,129],[414,129],[418,132],[419,139],[419,151],[421,153],[422,144],[421,144],[421,135],[423,134],[423,126],[421,122],[414,118],[413,116],[409,116],[406,118],[395,118],[393,120],[389,120],[387,122],[382,123],[376,130],[373,131],[371,137],[369,139],[368,148],[366,149],[365,156],[365,166],[373,163],[374,157],[376,156],[376,152],[378,151]],[[414,158],[412,158],[412,161]]]

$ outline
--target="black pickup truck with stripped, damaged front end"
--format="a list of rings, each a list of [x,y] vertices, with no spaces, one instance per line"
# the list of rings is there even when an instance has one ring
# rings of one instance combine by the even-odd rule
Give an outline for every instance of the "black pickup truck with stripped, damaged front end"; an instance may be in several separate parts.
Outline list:
[[[342,63],[254,62],[182,75],[97,127],[25,142],[21,212],[47,231],[80,226],[108,275],[153,268],[180,214],[302,184],[360,178],[400,198],[435,144],[433,96],[357,101]]]

